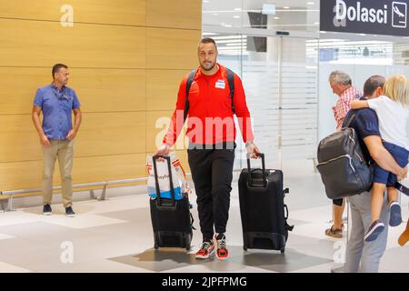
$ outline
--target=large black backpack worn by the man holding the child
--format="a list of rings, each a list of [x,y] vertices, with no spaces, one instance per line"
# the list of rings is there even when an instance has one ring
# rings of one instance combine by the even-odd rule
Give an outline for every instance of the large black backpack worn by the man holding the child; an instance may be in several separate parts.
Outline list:
[[[354,115],[341,131],[324,137],[318,146],[316,168],[330,199],[361,194],[372,186],[373,166],[365,160],[354,128],[349,127],[353,119]]]

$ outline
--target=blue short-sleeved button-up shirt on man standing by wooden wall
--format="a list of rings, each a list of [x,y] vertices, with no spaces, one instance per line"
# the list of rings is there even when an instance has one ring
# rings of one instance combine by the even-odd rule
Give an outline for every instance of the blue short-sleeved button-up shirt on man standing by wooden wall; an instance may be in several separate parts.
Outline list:
[[[43,111],[43,130],[49,139],[66,139],[73,129],[71,111],[80,107],[75,91],[63,86],[61,91],[55,85],[46,85],[37,90],[34,105]]]

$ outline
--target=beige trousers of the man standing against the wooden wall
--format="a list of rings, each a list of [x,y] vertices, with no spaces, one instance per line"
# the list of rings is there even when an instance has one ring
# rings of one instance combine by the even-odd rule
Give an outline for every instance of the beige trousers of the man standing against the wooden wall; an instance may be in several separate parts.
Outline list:
[[[61,185],[63,188],[63,203],[65,207],[72,206],[73,196],[73,156],[75,140],[50,140],[51,146],[43,146],[43,203],[51,204],[53,197],[53,174],[55,160],[60,166]]]

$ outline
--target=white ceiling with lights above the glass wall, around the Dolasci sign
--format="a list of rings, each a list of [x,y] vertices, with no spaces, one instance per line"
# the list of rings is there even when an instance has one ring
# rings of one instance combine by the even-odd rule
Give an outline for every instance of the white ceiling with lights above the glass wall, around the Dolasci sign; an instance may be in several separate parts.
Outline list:
[[[409,38],[388,35],[362,35],[346,33],[319,33],[320,0],[202,0],[204,32],[214,32],[231,28],[251,27],[249,11],[261,12],[264,4],[274,4],[276,14],[268,15],[267,29],[271,31],[291,31],[292,35],[320,38],[343,38],[353,41],[387,41],[408,43]],[[321,0],[325,1],[325,0]],[[284,6],[286,6],[284,8]],[[315,35],[315,36],[311,36]]]

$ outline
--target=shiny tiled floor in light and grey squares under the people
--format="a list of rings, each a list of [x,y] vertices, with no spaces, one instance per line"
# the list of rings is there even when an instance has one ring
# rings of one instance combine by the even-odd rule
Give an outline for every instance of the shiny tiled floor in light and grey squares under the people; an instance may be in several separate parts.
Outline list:
[[[284,173],[293,172],[285,169]],[[295,227],[284,255],[254,249],[244,252],[235,185],[226,232],[231,256],[226,261],[195,260],[193,254],[201,242],[198,230],[190,253],[177,248],[155,251],[147,196],[129,195],[140,188],[126,187],[110,189],[111,198],[106,201],[75,202],[74,218],[65,217],[61,205],[53,206],[53,216],[42,216],[41,206],[0,213],[0,273],[330,272],[336,266],[334,258],[342,257],[339,250],[346,239],[324,236],[332,210],[319,176],[305,171],[285,177],[285,186],[291,190],[285,200],[290,208],[290,224]],[[194,203],[195,197],[191,200]],[[403,197],[405,220],[409,216],[408,202]],[[193,215],[198,227],[195,203]],[[397,244],[403,229],[404,224],[390,230],[381,272],[409,272],[409,244]]]

